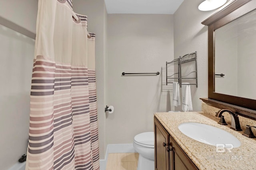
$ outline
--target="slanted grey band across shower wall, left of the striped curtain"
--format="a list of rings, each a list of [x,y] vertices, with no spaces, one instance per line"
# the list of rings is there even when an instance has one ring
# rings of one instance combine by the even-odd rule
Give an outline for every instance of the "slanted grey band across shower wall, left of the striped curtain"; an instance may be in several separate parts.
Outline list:
[[[1,16],[0,16],[0,24],[4,25],[5,27],[8,27],[14,31],[17,31],[18,33],[26,35],[27,37],[36,39],[35,33],[28,31],[28,29],[21,27],[20,25],[17,25],[16,23],[13,23],[12,21],[6,20],[5,18],[2,18]]]

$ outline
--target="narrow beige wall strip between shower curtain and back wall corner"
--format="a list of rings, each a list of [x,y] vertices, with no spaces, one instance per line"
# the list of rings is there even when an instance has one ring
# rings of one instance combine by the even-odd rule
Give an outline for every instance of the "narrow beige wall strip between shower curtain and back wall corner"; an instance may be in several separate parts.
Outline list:
[[[100,159],[105,158],[106,152],[106,7],[104,0],[74,0],[74,12],[88,16],[88,31],[96,33],[95,64],[96,64],[96,89],[98,105],[98,127]]]

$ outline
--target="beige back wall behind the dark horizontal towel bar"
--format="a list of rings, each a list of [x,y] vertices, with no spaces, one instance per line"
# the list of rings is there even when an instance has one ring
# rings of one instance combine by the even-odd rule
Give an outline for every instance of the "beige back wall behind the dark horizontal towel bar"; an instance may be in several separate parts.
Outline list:
[[[154,131],[153,114],[168,111],[171,89],[158,76],[122,72],[161,72],[173,59],[173,16],[108,14],[108,144],[132,143],[136,134]],[[170,86],[168,86],[170,87]]]

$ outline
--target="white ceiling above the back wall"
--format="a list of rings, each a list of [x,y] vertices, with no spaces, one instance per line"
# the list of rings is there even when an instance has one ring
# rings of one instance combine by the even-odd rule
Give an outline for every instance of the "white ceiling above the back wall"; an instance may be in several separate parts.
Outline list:
[[[108,14],[174,14],[184,0],[105,0]]]

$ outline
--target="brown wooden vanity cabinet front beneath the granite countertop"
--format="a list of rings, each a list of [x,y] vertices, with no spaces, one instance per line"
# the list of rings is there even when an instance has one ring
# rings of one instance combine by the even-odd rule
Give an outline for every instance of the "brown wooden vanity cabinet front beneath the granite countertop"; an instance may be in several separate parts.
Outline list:
[[[198,170],[186,153],[154,117],[155,170]]]

